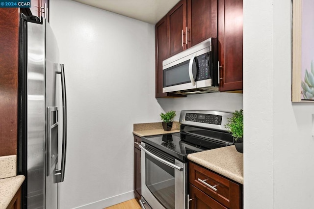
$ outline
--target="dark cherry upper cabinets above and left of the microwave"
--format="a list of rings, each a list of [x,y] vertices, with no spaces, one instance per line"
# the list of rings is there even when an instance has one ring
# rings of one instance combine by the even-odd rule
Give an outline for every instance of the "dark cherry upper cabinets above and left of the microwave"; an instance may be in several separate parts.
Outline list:
[[[216,0],[181,0],[156,24],[156,98],[186,97],[162,93],[162,61],[209,37],[217,37]]]

